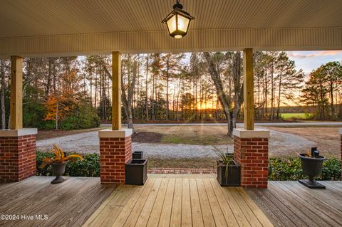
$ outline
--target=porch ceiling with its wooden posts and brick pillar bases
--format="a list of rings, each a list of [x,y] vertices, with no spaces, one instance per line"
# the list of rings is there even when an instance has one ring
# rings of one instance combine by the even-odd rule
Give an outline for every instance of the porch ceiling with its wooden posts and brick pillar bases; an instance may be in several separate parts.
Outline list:
[[[1,19],[7,29],[0,33],[0,56],[11,58],[11,111],[10,130],[0,131],[1,181],[20,181],[35,173],[36,130],[23,129],[22,123],[24,57],[111,53],[112,129],[99,133],[101,182],[125,184],[132,131],[121,129],[121,53],[243,51],[244,129],[234,130],[234,158],[242,165],[242,186],[266,188],[269,132],[254,130],[254,51],[342,47],[342,6],[336,0],[185,1],[185,9],[197,19],[180,40],[160,23],[174,4],[171,0],[92,4],[4,3]]]

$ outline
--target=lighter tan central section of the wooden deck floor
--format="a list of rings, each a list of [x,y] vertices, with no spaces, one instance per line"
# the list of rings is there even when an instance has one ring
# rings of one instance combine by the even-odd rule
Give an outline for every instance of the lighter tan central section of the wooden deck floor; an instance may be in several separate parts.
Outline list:
[[[83,226],[272,226],[242,188],[212,175],[150,174],[118,186]]]

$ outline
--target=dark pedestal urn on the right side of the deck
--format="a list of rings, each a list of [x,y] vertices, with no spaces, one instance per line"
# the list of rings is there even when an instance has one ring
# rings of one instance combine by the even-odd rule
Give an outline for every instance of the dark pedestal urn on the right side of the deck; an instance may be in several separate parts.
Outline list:
[[[307,154],[299,154],[301,159],[301,168],[303,173],[308,175],[308,179],[299,180],[299,183],[304,184],[310,189],[325,189],[326,186],[315,181],[315,177],[321,174],[323,161],[325,157],[319,155],[317,147],[312,147],[311,152]]]

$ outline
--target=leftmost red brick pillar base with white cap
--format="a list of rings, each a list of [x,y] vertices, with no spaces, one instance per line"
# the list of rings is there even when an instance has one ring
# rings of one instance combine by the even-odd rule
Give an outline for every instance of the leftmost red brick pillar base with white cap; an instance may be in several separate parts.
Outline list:
[[[0,130],[0,182],[36,175],[37,129]]]

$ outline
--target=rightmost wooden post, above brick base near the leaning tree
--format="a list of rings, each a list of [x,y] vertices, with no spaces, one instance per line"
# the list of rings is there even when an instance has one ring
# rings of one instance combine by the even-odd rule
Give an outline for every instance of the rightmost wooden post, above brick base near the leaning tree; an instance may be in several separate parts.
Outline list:
[[[253,49],[244,49],[244,129],[254,130]]]

